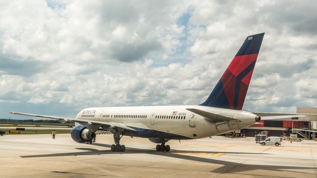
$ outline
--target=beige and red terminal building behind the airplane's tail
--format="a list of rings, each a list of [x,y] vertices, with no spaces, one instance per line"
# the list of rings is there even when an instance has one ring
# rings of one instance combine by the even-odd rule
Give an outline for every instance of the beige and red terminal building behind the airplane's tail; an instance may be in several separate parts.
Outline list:
[[[259,134],[261,131],[268,131],[268,136],[289,136],[290,134],[297,134],[298,137],[304,139],[314,139],[317,138],[316,132],[300,131],[301,130],[312,130],[317,131],[317,108],[308,107],[297,107],[296,113],[300,115],[305,115],[304,117],[293,117],[293,118],[283,118],[279,120],[272,121],[259,121],[258,124],[243,129],[240,132],[247,137],[254,137],[254,135]],[[256,112],[255,114],[259,116],[269,116],[269,115],[285,115],[288,113],[261,113]]]

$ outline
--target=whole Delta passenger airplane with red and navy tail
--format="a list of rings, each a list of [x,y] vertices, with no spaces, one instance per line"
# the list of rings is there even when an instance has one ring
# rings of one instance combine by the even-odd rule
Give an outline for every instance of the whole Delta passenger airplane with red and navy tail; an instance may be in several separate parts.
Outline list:
[[[113,133],[113,152],[125,152],[122,136],[148,138],[157,143],[156,151],[169,152],[166,142],[188,140],[245,129],[261,120],[301,115],[258,116],[243,111],[247,90],[264,33],[248,36],[212,93],[201,104],[177,106],[91,107],[75,118],[10,112],[12,114],[75,122],[71,138],[78,143],[92,142],[97,130]]]

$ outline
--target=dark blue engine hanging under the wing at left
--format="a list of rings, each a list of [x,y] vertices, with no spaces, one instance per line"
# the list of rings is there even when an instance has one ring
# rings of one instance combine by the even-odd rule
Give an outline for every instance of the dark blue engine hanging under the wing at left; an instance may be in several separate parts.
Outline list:
[[[92,140],[93,138],[96,138],[96,134],[83,125],[78,125],[71,129],[70,135],[71,138],[77,143],[85,143]]]

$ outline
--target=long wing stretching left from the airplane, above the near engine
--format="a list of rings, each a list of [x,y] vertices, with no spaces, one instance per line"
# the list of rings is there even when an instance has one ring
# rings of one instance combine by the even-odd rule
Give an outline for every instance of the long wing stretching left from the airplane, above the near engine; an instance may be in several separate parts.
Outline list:
[[[100,127],[105,127],[105,128],[119,128],[127,131],[133,131],[133,132],[138,132],[137,130],[130,128],[128,126],[125,126],[120,123],[106,123],[106,122],[98,122],[98,121],[90,121],[90,120],[78,120],[75,118],[69,118],[69,117],[58,117],[58,116],[50,116],[50,115],[39,115],[39,114],[29,114],[29,113],[22,113],[22,112],[10,112],[11,114],[18,114],[18,115],[27,115],[27,116],[33,116],[33,117],[41,117],[41,118],[50,118],[52,120],[59,120],[61,123],[66,123],[66,122],[75,122],[79,123],[84,126],[92,126],[92,125],[100,125]]]

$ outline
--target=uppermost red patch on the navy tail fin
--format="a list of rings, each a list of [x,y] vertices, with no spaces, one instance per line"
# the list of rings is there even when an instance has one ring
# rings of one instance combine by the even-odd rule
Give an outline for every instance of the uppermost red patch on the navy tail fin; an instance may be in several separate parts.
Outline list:
[[[233,57],[227,70],[234,76],[238,76],[243,70],[245,70],[251,63],[257,58],[257,54],[239,55]]]

